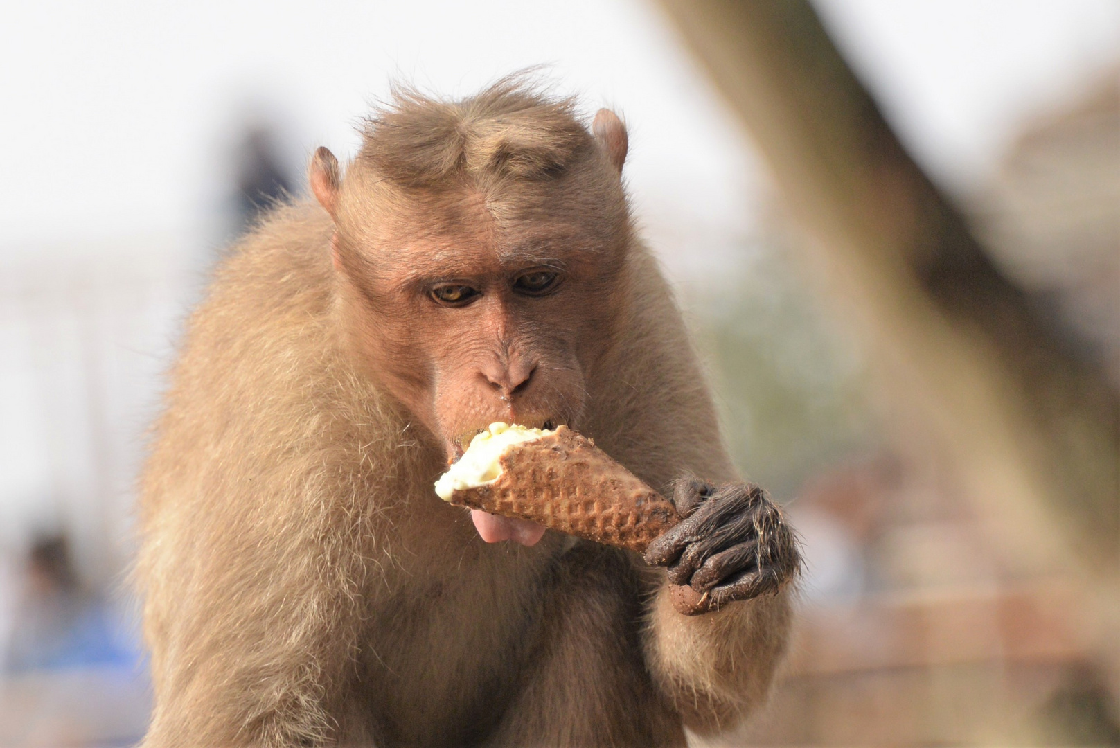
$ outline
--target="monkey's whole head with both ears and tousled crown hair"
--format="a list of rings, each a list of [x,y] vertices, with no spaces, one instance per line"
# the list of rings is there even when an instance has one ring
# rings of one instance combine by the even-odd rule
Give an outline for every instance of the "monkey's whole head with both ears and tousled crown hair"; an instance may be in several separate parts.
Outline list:
[[[345,176],[320,148],[339,310],[365,371],[456,457],[493,421],[578,428],[625,303],[626,130],[503,82],[398,94]]]

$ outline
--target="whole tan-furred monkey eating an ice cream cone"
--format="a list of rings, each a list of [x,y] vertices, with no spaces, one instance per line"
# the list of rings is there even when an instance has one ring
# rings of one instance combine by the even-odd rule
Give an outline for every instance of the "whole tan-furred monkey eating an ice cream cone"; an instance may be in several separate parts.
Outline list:
[[[143,746],[681,746],[764,702],[796,540],[722,445],[627,148],[523,77],[398,87],[214,271],[140,478]],[[493,421],[588,434],[684,520],[643,559],[440,501]]]

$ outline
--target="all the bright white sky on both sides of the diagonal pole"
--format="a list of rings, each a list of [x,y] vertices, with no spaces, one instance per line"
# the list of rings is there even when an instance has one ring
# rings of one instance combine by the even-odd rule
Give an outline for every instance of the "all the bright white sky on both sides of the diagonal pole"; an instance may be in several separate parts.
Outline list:
[[[1021,116],[1120,49],[1110,0],[823,0],[822,12],[935,176],[969,188]],[[8,2],[0,25],[0,260],[27,245],[203,236],[232,128],[286,115],[339,156],[392,76],[448,94],[550,64],[632,129],[653,221],[749,227],[737,125],[641,0]]]

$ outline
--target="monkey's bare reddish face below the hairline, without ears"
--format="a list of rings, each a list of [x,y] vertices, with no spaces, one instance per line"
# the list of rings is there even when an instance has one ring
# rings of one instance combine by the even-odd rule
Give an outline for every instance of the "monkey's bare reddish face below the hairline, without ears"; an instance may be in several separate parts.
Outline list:
[[[579,427],[620,303],[628,223],[620,199],[571,197],[461,190],[339,227],[361,355],[449,458],[494,421]]]

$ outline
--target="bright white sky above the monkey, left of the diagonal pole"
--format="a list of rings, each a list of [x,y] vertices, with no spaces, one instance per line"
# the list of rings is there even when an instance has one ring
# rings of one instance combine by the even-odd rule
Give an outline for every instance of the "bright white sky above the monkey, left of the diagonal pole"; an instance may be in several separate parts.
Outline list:
[[[588,109],[633,123],[628,175],[711,219],[736,213],[746,153],[703,81],[641,2],[13,4],[0,30],[12,143],[0,242],[192,227],[242,113],[293,120],[300,146],[353,152],[391,77],[468,94],[548,64]],[[703,197],[687,184],[711,183]],[[221,185],[224,187],[225,185]]]

